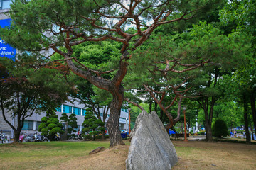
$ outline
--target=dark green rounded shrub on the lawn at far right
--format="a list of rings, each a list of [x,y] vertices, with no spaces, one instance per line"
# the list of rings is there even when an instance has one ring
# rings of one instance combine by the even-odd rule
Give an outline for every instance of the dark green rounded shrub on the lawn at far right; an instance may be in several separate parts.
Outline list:
[[[228,128],[224,120],[218,119],[213,124],[213,136],[221,138],[228,136]]]

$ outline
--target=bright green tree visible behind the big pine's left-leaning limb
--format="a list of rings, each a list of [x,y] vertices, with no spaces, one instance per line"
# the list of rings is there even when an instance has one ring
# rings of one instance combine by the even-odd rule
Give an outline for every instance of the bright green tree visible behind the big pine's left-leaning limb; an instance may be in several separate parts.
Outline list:
[[[108,64],[112,65],[111,59],[119,56],[121,45],[117,42],[87,42],[73,47],[75,57],[84,65],[90,65],[92,69],[104,68]],[[58,56],[60,58],[60,56]],[[111,74],[104,74],[102,78],[110,79]],[[91,108],[98,119],[105,123],[107,113],[110,111],[110,102],[112,96],[108,91],[96,88],[89,81],[85,81],[82,77],[74,76],[73,81],[76,84],[76,91],[72,94],[73,98],[79,103],[84,104],[87,108]],[[77,100],[78,99],[78,100]],[[105,130],[104,130],[105,131]],[[105,133],[103,132],[102,139]]]

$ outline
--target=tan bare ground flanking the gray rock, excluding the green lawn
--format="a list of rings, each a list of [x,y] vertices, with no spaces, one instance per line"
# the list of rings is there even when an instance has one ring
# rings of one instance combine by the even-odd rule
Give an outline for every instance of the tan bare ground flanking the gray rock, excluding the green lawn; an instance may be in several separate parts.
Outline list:
[[[172,141],[178,154],[178,164],[174,170],[181,169],[256,169],[256,145],[227,142]],[[48,169],[86,169],[122,170],[125,168],[129,146],[112,149],[70,159],[68,162],[48,167]]]

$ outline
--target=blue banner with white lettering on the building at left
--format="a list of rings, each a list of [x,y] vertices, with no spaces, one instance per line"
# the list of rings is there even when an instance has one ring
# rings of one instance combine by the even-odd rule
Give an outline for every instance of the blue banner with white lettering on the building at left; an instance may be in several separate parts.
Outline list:
[[[11,19],[0,20],[0,27],[4,28],[11,25]],[[0,38],[0,56],[15,59],[16,49],[6,44],[4,40]]]

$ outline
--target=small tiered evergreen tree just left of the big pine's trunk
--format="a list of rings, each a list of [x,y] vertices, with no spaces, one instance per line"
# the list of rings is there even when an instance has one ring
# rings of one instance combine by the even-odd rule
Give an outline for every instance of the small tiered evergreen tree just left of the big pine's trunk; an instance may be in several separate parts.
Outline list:
[[[82,132],[85,138],[91,138],[95,140],[96,135],[102,134],[105,131],[104,123],[102,120],[97,119],[90,108],[86,109],[85,121],[82,123],[85,128],[82,128]]]

